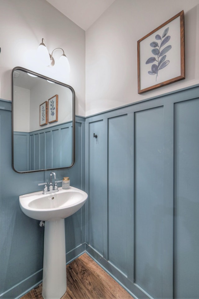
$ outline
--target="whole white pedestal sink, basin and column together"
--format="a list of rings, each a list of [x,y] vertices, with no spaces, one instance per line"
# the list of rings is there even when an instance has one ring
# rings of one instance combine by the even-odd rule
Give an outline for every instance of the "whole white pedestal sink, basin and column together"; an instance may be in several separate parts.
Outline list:
[[[70,187],[59,192],[41,191],[21,195],[19,204],[25,215],[45,221],[42,296],[60,299],[67,289],[64,218],[78,211],[86,202],[87,193]]]

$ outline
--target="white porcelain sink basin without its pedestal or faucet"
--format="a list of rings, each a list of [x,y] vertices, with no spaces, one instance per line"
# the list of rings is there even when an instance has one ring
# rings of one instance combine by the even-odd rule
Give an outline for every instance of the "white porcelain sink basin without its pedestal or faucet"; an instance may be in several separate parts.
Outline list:
[[[41,191],[21,195],[19,203],[25,215],[36,220],[55,220],[66,218],[78,211],[86,202],[86,192],[70,187],[50,194]]]

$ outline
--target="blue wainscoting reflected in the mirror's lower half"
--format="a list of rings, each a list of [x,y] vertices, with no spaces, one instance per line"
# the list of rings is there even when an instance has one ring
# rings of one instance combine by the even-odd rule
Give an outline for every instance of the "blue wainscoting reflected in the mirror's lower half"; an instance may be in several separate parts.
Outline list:
[[[14,168],[20,172],[70,166],[71,144],[72,121],[30,133],[14,132]]]

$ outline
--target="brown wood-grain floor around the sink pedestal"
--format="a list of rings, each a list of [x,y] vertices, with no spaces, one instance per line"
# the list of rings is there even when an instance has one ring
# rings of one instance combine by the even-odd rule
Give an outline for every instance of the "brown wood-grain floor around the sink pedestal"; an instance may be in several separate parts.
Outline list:
[[[133,299],[86,253],[66,268],[67,291],[62,299]],[[21,299],[43,299],[41,293],[42,284]]]

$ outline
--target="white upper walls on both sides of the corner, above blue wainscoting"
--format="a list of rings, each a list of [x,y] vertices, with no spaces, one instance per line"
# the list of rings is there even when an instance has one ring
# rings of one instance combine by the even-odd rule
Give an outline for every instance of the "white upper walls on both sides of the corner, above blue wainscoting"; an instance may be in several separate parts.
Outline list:
[[[186,79],[139,95],[137,40],[181,10]],[[71,85],[76,114],[81,116],[199,83],[199,0],[115,0],[86,31],[86,100],[85,31],[45,0],[1,0],[0,25],[0,98],[6,100],[11,100],[11,71],[16,66]],[[57,47],[66,52],[69,80],[56,67],[43,67],[37,61],[42,37],[50,52]]]

